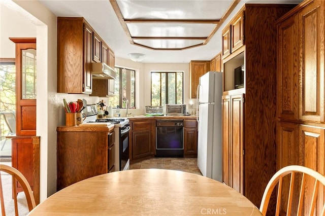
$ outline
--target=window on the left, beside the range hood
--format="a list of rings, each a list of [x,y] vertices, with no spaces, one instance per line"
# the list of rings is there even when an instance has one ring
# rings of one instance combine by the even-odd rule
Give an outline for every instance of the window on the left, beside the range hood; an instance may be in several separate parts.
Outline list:
[[[115,72],[114,96],[109,97],[109,105],[126,108],[126,100],[128,100],[129,107],[136,107],[136,71],[115,67]]]

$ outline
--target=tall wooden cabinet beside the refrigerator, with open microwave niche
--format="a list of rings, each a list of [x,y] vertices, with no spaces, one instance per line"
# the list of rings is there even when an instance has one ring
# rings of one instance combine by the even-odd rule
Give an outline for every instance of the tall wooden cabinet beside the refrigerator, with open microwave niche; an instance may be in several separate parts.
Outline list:
[[[230,49],[222,56],[223,182],[256,206],[276,172],[275,22],[293,7],[245,4],[224,29],[233,33],[222,40]],[[235,68],[242,65],[244,87],[236,89]]]

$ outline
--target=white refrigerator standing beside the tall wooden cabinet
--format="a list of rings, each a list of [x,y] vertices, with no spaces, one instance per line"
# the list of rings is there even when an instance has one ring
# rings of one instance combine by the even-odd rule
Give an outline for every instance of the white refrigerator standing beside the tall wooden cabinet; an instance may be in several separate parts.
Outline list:
[[[200,77],[197,92],[198,167],[204,176],[222,182],[222,73]]]

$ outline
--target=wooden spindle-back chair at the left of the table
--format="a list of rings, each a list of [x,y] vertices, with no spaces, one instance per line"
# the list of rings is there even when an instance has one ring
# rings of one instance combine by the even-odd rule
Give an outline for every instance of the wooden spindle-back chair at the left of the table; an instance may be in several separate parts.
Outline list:
[[[23,176],[23,174],[21,172],[19,172],[17,169],[15,169],[11,166],[4,165],[4,164],[0,164],[0,171],[7,172],[8,174],[10,174],[12,176],[12,182],[13,182],[12,187],[13,187],[14,194],[17,194],[15,182],[16,182],[16,180],[19,182],[19,184],[21,185],[21,187],[24,190],[29,211],[31,211],[31,209],[35,208],[35,206],[36,206],[35,198],[34,198],[34,195],[32,194],[31,188],[30,188],[25,176]],[[5,203],[4,203],[4,194],[3,194],[2,182],[1,182],[1,175],[0,175],[0,198],[1,198],[2,215],[5,216],[6,211],[5,211]],[[16,213],[16,215],[18,215],[17,196],[14,196],[14,205],[15,205],[15,213]]]

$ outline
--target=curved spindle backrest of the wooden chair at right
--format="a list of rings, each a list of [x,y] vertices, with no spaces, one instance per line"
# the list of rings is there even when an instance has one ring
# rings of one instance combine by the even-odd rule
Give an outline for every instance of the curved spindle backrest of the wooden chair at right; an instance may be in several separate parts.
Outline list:
[[[283,177],[286,175],[290,176],[290,183],[289,183],[289,193],[288,193],[288,200],[287,200],[287,209],[286,214],[291,215],[291,209],[293,205],[293,198],[294,198],[294,189],[297,188],[295,186],[295,179],[297,178],[297,173],[301,173],[301,186],[299,192],[299,198],[298,198],[298,207],[297,207],[297,215],[303,215],[303,205],[304,205],[304,196],[305,191],[309,191],[309,195],[311,194],[311,201],[308,202],[309,206],[309,214],[308,215],[314,215],[315,206],[316,206],[316,200],[317,200],[317,194],[319,190],[324,190],[323,186],[325,186],[325,176],[321,175],[320,173],[316,172],[315,170],[312,170],[310,168],[304,167],[304,166],[298,166],[298,165],[291,165],[286,166],[279,171],[277,171],[273,177],[270,179],[268,185],[266,186],[266,189],[264,191],[261,207],[259,207],[259,211],[262,212],[263,215],[266,215],[268,210],[269,201],[273,192],[273,189],[278,186],[277,191],[277,199],[276,199],[276,215],[279,215],[280,211],[280,205],[281,205],[281,197],[282,197],[282,183],[283,183]],[[310,176],[310,177],[308,177]],[[313,178],[313,188],[307,189],[306,185],[306,179],[309,179],[308,182],[310,183],[310,178]],[[322,184],[322,187],[319,187],[319,184]],[[305,203],[306,204],[306,203]],[[324,203],[321,203],[322,210],[321,214],[319,215],[325,215],[325,205]]]

